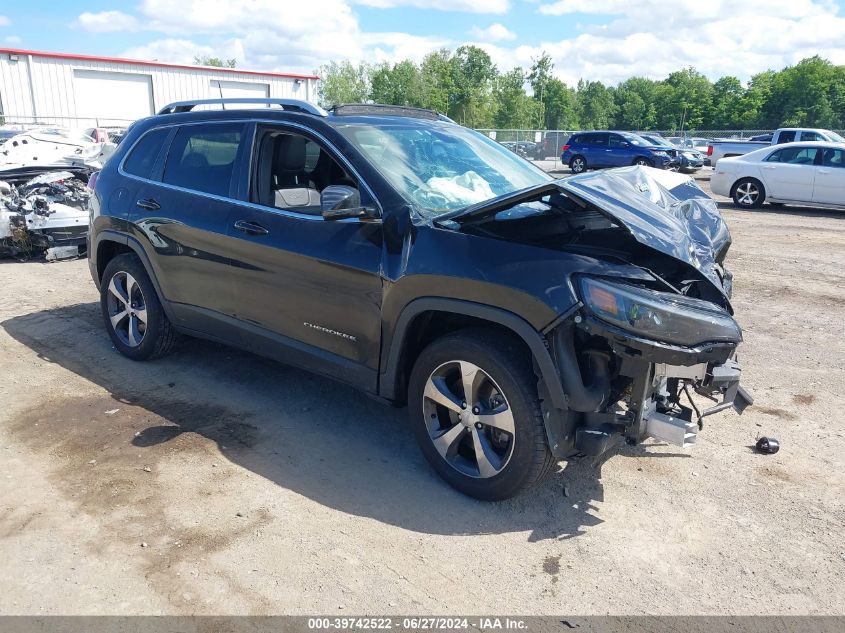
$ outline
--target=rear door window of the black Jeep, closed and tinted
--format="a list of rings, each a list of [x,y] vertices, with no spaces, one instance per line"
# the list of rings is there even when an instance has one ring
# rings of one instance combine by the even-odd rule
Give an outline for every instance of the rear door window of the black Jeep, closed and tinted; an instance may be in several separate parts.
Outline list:
[[[241,123],[186,125],[170,144],[162,181],[194,191],[228,196],[235,157],[244,136]]]

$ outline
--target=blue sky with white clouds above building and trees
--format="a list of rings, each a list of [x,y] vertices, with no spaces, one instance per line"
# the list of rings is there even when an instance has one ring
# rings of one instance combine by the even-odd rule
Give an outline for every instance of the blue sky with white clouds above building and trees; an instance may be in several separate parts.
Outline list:
[[[500,70],[543,51],[554,73],[616,84],[694,66],[711,79],[820,54],[845,64],[845,0],[135,0],[0,2],[0,47],[313,72],[419,61],[462,44]],[[840,43],[840,45],[837,45]]]

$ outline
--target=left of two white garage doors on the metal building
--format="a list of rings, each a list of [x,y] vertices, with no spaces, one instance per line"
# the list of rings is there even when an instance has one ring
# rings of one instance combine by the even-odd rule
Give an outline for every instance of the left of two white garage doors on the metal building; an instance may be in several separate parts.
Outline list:
[[[73,91],[77,116],[97,117],[100,125],[134,121],[153,113],[149,75],[74,70]]]

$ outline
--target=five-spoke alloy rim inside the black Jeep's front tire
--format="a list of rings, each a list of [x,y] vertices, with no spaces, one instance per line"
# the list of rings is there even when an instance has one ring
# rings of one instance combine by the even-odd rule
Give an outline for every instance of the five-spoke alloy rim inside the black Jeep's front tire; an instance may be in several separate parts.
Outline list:
[[[483,369],[467,361],[443,363],[429,375],[422,405],[429,439],[452,468],[487,479],[507,466],[515,440],[513,412]]]

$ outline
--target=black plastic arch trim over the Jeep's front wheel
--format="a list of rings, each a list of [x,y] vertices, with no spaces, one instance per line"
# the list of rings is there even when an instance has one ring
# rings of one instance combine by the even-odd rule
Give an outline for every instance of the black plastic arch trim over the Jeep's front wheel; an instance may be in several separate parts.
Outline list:
[[[435,338],[464,327],[485,326],[515,335],[531,354],[554,406],[567,407],[560,376],[545,338],[517,314],[493,306],[440,297],[415,299],[403,308],[389,345],[382,350],[379,395],[402,403],[413,363]]]

